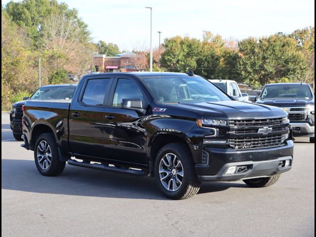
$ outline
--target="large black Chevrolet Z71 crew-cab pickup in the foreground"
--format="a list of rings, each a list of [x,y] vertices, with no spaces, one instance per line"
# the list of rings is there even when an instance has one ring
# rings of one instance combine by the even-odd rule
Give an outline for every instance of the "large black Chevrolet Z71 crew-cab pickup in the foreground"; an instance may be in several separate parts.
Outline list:
[[[192,72],[86,75],[71,102],[32,100],[23,111],[22,146],[46,176],[66,162],[150,174],[183,199],[202,181],[266,187],[292,167],[284,110],[235,101]]]

